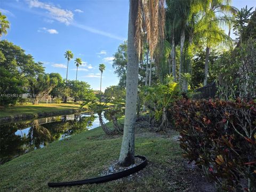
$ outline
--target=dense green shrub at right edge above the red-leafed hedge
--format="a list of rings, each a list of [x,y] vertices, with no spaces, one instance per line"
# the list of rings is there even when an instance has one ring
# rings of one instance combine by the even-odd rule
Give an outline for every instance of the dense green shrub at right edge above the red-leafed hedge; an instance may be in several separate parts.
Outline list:
[[[223,53],[214,63],[218,95],[225,100],[256,98],[256,40]]]

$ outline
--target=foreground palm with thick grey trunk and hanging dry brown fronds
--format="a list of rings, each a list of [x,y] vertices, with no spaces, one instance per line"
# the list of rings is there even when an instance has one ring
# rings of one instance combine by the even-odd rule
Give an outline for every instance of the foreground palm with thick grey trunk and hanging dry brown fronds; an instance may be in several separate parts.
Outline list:
[[[135,120],[139,74],[139,58],[143,47],[143,26],[147,31],[147,42],[150,57],[159,42],[164,39],[165,9],[164,0],[133,1],[130,0],[129,25],[127,39],[127,69],[126,69],[126,101],[125,120],[122,147],[119,164],[129,166],[134,164]],[[161,43],[160,43],[161,45]],[[149,80],[150,81],[150,80]]]

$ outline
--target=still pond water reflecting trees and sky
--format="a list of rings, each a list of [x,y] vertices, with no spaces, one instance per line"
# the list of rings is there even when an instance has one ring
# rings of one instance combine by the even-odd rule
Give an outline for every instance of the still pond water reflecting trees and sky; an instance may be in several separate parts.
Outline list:
[[[102,114],[103,121],[108,119]],[[0,165],[48,143],[100,126],[97,114],[86,113],[33,119],[0,125]]]

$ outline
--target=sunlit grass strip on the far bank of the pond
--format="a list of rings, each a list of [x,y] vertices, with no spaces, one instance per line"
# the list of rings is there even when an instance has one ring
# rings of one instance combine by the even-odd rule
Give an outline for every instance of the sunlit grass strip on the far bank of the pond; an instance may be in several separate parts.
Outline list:
[[[21,105],[0,108],[0,117],[15,116],[20,114],[37,114],[42,112],[55,112],[61,110],[78,109],[79,104],[75,103],[54,103],[39,105]]]

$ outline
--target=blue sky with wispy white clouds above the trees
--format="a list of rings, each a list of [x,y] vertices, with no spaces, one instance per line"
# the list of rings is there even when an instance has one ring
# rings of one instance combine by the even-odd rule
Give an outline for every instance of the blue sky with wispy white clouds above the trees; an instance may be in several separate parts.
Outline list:
[[[238,9],[256,6],[254,0],[233,0]],[[11,23],[8,41],[44,63],[46,73],[66,77],[66,50],[81,58],[77,79],[100,87],[98,66],[105,63],[102,89],[117,85],[112,68],[113,54],[127,38],[129,1],[43,1],[0,0],[0,11]],[[68,79],[76,78],[74,60],[69,63]]]

